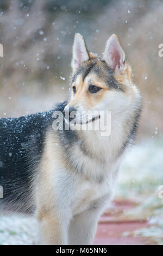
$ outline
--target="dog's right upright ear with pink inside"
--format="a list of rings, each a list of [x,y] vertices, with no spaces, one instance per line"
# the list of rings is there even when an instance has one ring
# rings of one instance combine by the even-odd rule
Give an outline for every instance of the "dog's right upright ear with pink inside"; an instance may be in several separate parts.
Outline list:
[[[126,70],[126,56],[117,35],[112,34],[106,42],[103,60],[114,71],[115,76],[121,75]]]

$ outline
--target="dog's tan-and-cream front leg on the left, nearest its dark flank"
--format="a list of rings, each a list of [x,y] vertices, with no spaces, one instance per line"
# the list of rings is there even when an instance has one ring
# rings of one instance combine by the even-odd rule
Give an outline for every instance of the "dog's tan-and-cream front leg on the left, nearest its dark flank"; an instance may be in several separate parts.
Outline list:
[[[55,171],[54,177],[48,175],[40,180],[43,182],[40,182],[36,190],[36,217],[40,226],[41,243],[67,245],[75,182],[72,182],[71,174],[64,169]]]

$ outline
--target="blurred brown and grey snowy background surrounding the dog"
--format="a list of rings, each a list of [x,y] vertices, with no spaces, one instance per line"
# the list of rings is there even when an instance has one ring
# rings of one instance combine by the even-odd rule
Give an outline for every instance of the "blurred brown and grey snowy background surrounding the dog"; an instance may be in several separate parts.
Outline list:
[[[115,231],[111,240],[106,231],[106,242],[118,237],[115,243],[124,243],[124,237],[130,237],[137,243],[163,244],[163,200],[158,197],[163,185],[163,57],[158,54],[162,12],[159,0],[0,0],[0,117],[46,111],[65,99],[74,33],[81,33],[89,50],[99,55],[115,33],[128,56],[133,81],[143,96],[143,113],[108,215],[115,223],[145,225]],[[33,244],[28,225],[24,219],[0,217],[0,244]]]

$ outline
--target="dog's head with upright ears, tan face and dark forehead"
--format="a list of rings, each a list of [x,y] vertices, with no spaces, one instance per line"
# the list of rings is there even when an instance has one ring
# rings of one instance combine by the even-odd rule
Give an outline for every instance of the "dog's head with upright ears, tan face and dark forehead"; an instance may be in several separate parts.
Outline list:
[[[131,82],[131,68],[115,34],[106,42],[103,58],[87,50],[83,36],[76,34],[73,44],[71,100],[65,112],[75,113],[77,123],[95,120],[95,111],[126,111],[138,92]],[[98,118],[99,115],[97,114]]]

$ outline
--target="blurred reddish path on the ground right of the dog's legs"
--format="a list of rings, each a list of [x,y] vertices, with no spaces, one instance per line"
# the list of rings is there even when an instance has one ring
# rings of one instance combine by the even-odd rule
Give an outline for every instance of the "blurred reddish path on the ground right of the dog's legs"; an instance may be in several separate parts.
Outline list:
[[[134,208],[135,204],[129,201],[117,201],[112,203],[111,210],[106,210],[99,221],[94,245],[146,245],[147,239],[143,237],[123,236],[126,231],[134,231],[147,227],[146,220],[122,220],[121,213]]]

